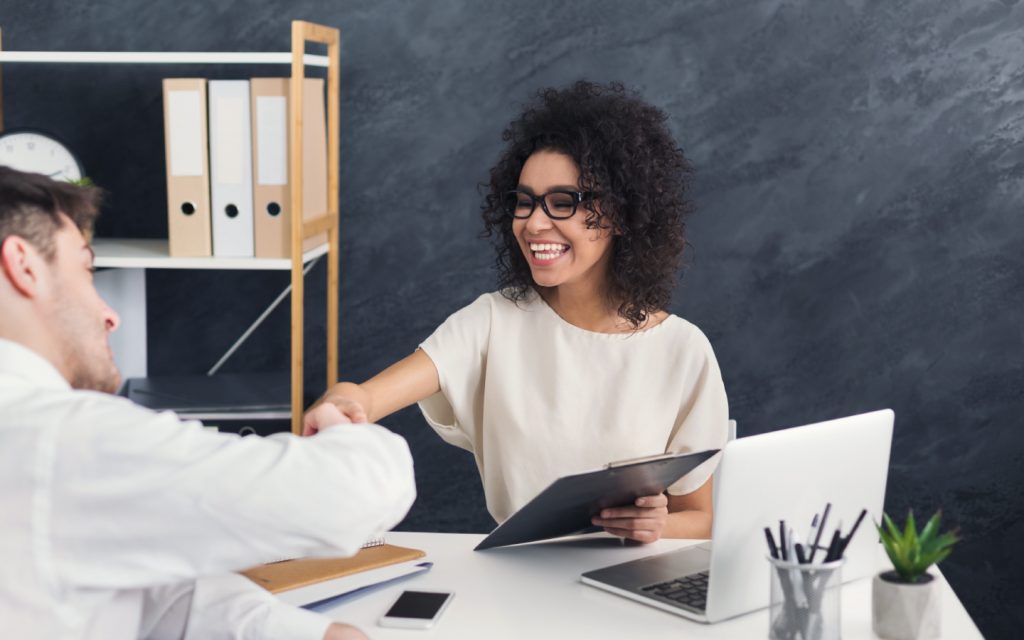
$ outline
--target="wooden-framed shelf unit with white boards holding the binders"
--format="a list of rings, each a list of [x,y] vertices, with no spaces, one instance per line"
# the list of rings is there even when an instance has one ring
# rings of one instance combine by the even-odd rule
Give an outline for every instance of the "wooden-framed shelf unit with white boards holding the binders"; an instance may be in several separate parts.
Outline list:
[[[292,431],[302,428],[302,372],[304,345],[303,265],[325,253],[327,276],[327,385],[338,379],[338,171],[340,141],[340,35],[337,29],[304,20],[292,22],[290,52],[139,52],[139,51],[3,51],[2,63],[124,63],[124,65],[291,65],[288,123],[289,180],[293,212],[302,211],[302,100],[306,67],[327,69],[328,136],[328,211],[327,215],[306,221],[302,215],[291,217],[290,259],[266,258],[172,258],[166,241],[96,239],[96,266],[112,268],[189,268],[189,269],[290,269],[292,297],[291,334],[291,407]],[[307,43],[327,46],[327,55],[305,52]],[[3,130],[3,93],[0,76],[0,131]],[[307,252],[303,241],[327,232],[327,245]]]

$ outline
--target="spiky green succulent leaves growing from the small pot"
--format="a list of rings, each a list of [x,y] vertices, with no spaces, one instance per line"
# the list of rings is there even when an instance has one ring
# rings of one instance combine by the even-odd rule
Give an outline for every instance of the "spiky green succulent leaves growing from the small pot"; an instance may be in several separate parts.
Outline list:
[[[893,523],[889,514],[883,513],[882,517],[885,526],[876,525],[879,536],[882,537],[882,544],[889,559],[892,560],[893,568],[907,583],[919,582],[928,567],[944,560],[952,551],[953,545],[959,541],[955,530],[939,534],[941,509],[935,512],[920,534],[913,521],[912,510],[907,511],[906,524],[902,532]]]

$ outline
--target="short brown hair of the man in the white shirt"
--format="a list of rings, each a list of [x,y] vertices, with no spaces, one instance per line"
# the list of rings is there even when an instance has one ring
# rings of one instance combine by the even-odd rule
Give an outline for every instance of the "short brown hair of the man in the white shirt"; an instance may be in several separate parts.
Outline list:
[[[86,238],[99,213],[102,191],[59,182],[41,173],[0,167],[0,247],[10,236],[29,241],[48,261],[56,255],[54,236],[71,218]]]

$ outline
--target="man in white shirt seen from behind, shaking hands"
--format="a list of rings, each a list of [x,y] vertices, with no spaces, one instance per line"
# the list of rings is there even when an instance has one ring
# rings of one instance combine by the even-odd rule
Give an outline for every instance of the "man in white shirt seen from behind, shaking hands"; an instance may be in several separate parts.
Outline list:
[[[365,638],[230,571],[393,526],[404,440],[240,438],[102,393],[119,321],[92,285],[97,201],[0,167],[0,637]]]

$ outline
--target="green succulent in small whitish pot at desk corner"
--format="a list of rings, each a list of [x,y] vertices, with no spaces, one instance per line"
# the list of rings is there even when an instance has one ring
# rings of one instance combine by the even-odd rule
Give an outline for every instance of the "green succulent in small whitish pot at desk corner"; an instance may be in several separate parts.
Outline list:
[[[941,591],[928,567],[952,551],[959,538],[956,531],[939,534],[942,511],[933,515],[918,531],[913,511],[907,512],[903,530],[883,514],[885,526],[877,524],[882,545],[893,563],[871,584],[871,628],[887,640],[937,638],[941,627]]]

